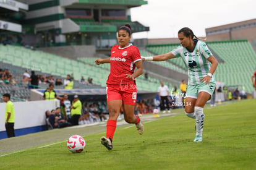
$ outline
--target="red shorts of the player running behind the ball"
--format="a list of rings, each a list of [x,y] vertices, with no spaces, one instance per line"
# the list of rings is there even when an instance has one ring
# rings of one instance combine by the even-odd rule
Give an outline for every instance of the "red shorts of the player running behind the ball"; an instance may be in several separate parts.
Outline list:
[[[107,85],[107,102],[111,100],[122,100],[123,104],[135,106],[137,100],[136,85]]]

